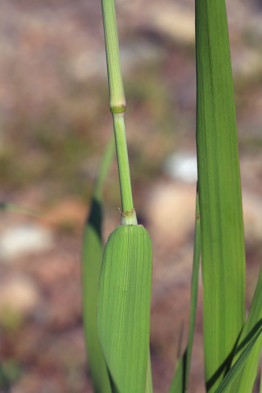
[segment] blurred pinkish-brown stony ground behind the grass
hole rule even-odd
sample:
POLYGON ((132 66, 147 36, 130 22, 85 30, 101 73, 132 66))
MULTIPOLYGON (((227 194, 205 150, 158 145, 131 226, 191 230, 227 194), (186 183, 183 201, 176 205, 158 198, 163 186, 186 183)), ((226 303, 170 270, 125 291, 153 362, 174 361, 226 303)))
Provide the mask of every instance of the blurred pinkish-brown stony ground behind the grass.
MULTIPOLYGON (((189 319, 196 192, 193 0, 116 0, 134 206, 153 243, 154 391, 167 392, 189 319)), ((227 0, 247 254, 262 260, 262 3, 227 0)), ((99 0, 2 0, 0 392, 91 393, 81 238, 112 133, 99 0)), ((104 241, 119 224, 114 161, 104 241)), ((202 393, 202 289, 189 392, 202 393)), ((258 390, 258 383, 255 391, 258 390)))

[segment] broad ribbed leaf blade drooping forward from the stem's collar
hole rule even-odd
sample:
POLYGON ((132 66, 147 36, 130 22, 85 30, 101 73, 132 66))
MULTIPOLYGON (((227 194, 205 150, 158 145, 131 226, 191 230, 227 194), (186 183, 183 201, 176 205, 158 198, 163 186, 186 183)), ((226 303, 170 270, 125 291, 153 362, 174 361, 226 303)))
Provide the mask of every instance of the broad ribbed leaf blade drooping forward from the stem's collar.
POLYGON ((97 328, 113 391, 145 393, 152 245, 141 225, 108 237, 99 279, 97 328))

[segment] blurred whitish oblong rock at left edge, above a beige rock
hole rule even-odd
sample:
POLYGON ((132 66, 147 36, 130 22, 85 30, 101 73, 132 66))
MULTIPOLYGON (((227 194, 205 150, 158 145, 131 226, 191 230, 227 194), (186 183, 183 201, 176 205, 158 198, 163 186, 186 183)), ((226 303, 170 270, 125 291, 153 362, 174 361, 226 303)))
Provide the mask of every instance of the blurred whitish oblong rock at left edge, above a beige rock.
POLYGON ((52 246, 51 232, 33 224, 7 228, 0 235, 0 258, 10 261, 27 253, 38 253, 52 246))

